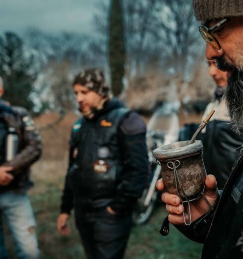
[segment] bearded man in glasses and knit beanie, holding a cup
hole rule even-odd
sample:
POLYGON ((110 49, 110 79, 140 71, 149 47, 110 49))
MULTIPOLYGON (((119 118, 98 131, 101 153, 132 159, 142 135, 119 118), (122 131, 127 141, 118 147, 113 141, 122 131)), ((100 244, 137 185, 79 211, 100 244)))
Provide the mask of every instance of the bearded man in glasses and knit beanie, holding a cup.
MULTIPOLYGON (((227 71, 225 98, 232 127, 243 132, 243 0, 193 0, 193 7, 202 23, 199 29, 207 43, 207 59, 227 71)), ((206 177, 205 187, 208 202, 201 197, 190 203, 190 226, 184 225, 180 197, 164 192, 169 221, 191 240, 204 244, 202 259, 242 259, 243 146, 223 192, 218 192, 213 175, 206 177)), ((157 188, 164 190, 163 180, 157 188)))

